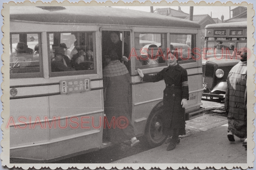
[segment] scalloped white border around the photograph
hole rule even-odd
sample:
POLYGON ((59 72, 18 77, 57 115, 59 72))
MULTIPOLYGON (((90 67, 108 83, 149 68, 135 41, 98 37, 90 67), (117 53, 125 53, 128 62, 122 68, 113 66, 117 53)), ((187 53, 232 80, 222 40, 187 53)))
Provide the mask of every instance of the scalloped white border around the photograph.
POLYGON ((24 2, 18 2, 15 3, 13 1, 3 3, 3 8, 1 11, 1 14, 3 16, 3 25, 2 25, 2 44, 3 44, 3 53, 1 55, 3 60, 3 66, 1 68, 3 81, 1 83, 2 88, 2 96, 1 101, 3 103, 3 111, 1 113, 1 117, 3 119, 1 130, 3 132, 3 139, 1 141, 1 147, 2 147, 2 153, 0 155, 1 158, 1 164, 2 166, 5 166, 7 168, 12 167, 21 167, 22 169, 29 169, 29 168, 35 168, 35 169, 41 169, 41 168, 49 168, 49 169, 68 169, 68 168, 75 168, 75 169, 98 169, 98 168, 104 168, 104 169, 111 169, 111 168, 117 168, 119 170, 124 168, 132 168, 134 170, 137 170, 139 168, 144 168, 146 170, 149 170, 151 168, 160 168, 161 170, 171 168, 174 170, 177 170, 179 168, 187 168, 187 169, 207 169, 207 168, 215 168, 215 169, 233 169, 233 168, 241 168, 241 169, 247 169, 254 167, 254 160, 255 155, 253 153, 253 148, 255 147, 255 142, 253 141, 253 134, 255 132, 255 125, 254 125, 254 119, 255 119, 255 111, 254 111, 254 104, 256 102, 256 97, 254 95, 254 91, 256 90, 256 84, 255 84, 255 73, 256 69, 254 66, 255 61, 255 53, 254 53, 254 45, 255 45, 255 39, 253 36, 253 33, 255 32, 255 27, 253 25, 253 17, 255 15, 255 11, 253 10, 253 3, 248 2, 241 2, 241 3, 233 3, 231 1, 228 2, 220 2, 216 1, 215 3, 208 3, 205 1, 194 2, 192 0, 184 3, 180 3, 178 1, 158 1, 158 2, 151 2, 150 0, 146 0, 145 2, 141 1, 78 1, 78 2, 69 2, 67 0, 65 1, 51 1, 51 2, 43 2, 43 1, 37 1, 37 2, 31 2, 28 0, 25 0, 24 2), (247 61, 247 119, 248 119, 248 126, 247 126, 247 163, 246 164, 158 164, 158 163, 152 163, 152 164, 47 164, 47 163, 13 163, 11 164, 9 162, 10 157, 10 132, 9 129, 5 129, 5 126, 7 124, 7 120, 9 118, 9 111, 10 111, 10 98, 9 98, 9 87, 10 87, 10 73, 9 73, 9 65, 5 64, 5 61, 9 61, 9 54, 7 54, 5 49, 9 48, 9 40, 4 37, 4 34, 9 34, 10 28, 9 28, 9 6, 246 6, 247 7, 247 48, 251 51, 252 56, 247 61))

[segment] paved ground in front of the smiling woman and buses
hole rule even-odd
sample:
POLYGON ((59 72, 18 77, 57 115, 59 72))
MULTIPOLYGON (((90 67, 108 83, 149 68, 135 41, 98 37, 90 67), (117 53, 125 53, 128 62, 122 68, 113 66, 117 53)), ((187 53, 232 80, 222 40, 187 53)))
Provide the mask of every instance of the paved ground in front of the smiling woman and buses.
MULTIPOLYGON (((113 163, 246 163, 247 154, 239 138, 235 138, 236 141, 233 143, 227 139, 226 120, 215 116, 203 117, 218 125, 216 127, 204 126, 204 123, 201 127, 196 125, 196 130, 201 128, 203 131, 183 137, 181 143, 172 151, 166 151, 168 144, 164 144, 113 163)), ((202 116, 195 118, 189 125, 201 120, 202 116)))

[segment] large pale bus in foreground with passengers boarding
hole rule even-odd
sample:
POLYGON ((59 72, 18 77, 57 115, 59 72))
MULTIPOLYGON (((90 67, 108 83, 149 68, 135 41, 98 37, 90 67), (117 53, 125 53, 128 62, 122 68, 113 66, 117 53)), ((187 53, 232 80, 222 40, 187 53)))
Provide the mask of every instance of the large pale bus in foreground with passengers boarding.
MULTIPOLYGON (((141 48, 145 43, 158 43, 162 57, 171 44, 196 48, 200 45, 199 24, 110 7, 11 6, 10 119, 6 127, 10 128, 11 162, 50 162, 111 145, 103 143, 102 73, 111 31, 120 33, 122 49, 126 44, 130 52, 125 66, 131 76, 129 109, 135 135, 144 136, 151 147, 165 141, 160 116, 165 83, 142 82, 137 68, 155 74, 167 62, 156 59, 155 64, 147 65, 140 56, 141 48), (61 65, 67 67, 81 49, 91 57, 87 68, 54 67, 55 53, 66 56, 61 65)), ((200 107, 203 72, 198 55, 185 55, 179 56, 186 58, 179 63, 188 72, 188 120, 204 110, 200 107)))

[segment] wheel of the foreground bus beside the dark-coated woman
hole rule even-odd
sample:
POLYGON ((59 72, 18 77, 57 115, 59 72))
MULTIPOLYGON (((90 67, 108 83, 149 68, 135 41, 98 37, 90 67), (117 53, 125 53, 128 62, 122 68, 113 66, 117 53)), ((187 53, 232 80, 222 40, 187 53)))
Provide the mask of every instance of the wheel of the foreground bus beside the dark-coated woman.
POLYGON ((158 147, 162 145, 167 136, 163 134, 163 117, 162 110, 159 109, 151 113, 147 119, 146 125, 146 141, 150 147, 158 147))

